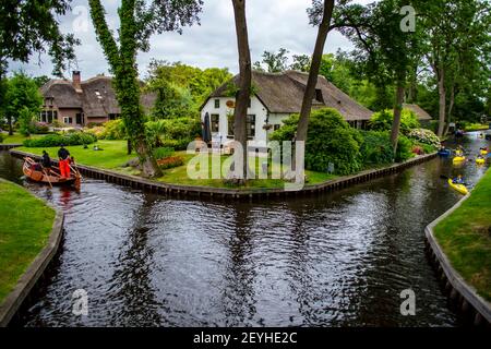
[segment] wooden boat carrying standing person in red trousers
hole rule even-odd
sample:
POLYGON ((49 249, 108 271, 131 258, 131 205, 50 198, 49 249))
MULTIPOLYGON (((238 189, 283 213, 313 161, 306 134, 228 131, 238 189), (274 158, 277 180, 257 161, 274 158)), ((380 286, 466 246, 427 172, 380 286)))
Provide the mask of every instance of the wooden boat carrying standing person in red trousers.
POLYGON ((71 167, 70 177, 63 178, 58 168, 51 167, 50 169, 45 169, 41 168, 40 165, 37 165, 31 157, 25 157, 22 171, 25 177, 34 182, 46 183, 49 185, 73 185, 76 189, 80 189, 82 176, 73 167, 71 167))

